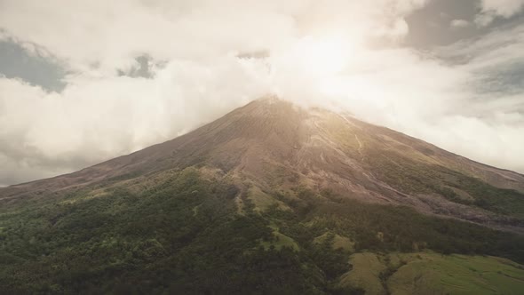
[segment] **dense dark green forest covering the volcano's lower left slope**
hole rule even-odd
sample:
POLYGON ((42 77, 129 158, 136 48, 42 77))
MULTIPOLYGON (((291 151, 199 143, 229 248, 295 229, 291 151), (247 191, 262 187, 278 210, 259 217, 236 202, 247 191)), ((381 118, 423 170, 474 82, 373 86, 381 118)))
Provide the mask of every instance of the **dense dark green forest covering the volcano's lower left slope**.
POLYGON ((0 290, 322 293, 322 269, 306 255, 285 244, 264 249, 261 241, 275 239, 270 223, 235 214, 237 193, 187 169, 141 194, 79 191, 5 209, 0 290))

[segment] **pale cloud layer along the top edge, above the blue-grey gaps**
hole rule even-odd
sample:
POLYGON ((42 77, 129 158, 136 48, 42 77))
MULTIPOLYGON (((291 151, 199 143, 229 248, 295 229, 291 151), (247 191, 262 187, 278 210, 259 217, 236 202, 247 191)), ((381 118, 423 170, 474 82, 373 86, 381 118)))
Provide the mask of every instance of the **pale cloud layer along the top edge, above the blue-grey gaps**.
POLYGON ((20 41, 41 45, 73 70, 112 75, 115 69, 130 68, 143 53, 156 60, 210 58, 274 49, 304 32, 332 28, 355 38, 365 30, 398 38, 406 33, 402 16, 424 3, 99 0, 72 5, 20 0, 2 4, 0 28, 20 41))

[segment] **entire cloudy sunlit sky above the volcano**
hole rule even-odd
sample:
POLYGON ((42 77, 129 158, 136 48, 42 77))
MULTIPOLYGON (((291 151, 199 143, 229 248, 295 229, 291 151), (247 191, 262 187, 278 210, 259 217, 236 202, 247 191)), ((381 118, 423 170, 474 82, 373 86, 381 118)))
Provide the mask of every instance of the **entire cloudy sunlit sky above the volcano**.
POLYGON ((0 0, 0 186, 267 94, 524 172, 524 0, 0 0))

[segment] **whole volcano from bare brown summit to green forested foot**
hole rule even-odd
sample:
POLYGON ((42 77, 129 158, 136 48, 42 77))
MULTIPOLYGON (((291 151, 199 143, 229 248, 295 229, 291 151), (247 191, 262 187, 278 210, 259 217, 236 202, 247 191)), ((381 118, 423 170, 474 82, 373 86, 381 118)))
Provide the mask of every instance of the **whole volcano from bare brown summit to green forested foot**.
POLYGON ((256 100, 131 155, 0 189, 0 289, 455 293, 435 289, 431 271, 416 285, 410 269, 438 260, 445 274, 467 259, 465 285, 481 264, 492 273, 483 291, 518 293, 523 192, 519 173, 351 116, 256 100))

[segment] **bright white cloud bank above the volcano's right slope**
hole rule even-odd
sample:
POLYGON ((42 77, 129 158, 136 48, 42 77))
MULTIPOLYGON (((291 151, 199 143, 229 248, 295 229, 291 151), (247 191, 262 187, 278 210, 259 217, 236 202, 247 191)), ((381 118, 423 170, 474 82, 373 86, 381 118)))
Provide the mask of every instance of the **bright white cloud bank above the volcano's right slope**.
POLYGON ((374 123, 524 171, 524 25, 431 55, 405 49, 380 54, 369 57, 377 62, 369 76, 346 76, 348 89, 337 101, 374 123))

